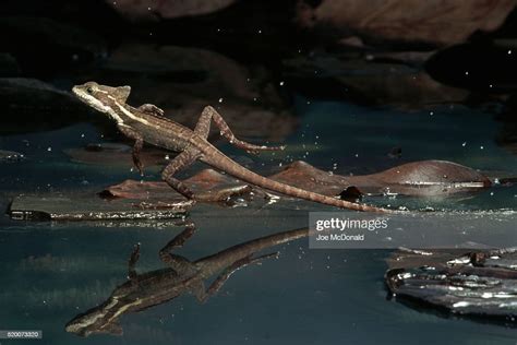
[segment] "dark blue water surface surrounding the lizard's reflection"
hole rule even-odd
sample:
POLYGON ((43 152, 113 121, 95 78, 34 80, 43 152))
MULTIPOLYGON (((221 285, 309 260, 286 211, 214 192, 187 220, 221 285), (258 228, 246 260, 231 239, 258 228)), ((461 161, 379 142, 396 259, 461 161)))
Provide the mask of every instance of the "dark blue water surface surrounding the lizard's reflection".
MULTIPOLYGON (((299 130, 281 155, 263 155, 254 167, 278 168, 291 158, 336 172, 365 174, 417 159, 448 159, 486 171, 514 175, 517 160, 494 144, 498 124, 489 114, 462 106, 405 112, 345 103, 297 100, 299 130), (375 123, 375 124, 373 124, 375 123), (387 153, 402 147, 402 158, 387 153), (306 154, 309 152, 309 154, 306 154), (263 165, 264 164, 264 165, 263 165)), ((70 162, 62 150, 99 141, 87 123, 27 135, 0 138, 3 150, 25 162, 0 169, 1 205, 34 191, 99 189, 136 178, 128 167, 106 168, 70 162), (84 134, 84 135, 83 135, 84 134), (51 150, 49 151, 49 147, 51 150)), ((242 155, 223 145, 225 152, 242 155)), ((157 179, 149 171, 145 179, 157 179)), ((515 187, 496 186, 471 198, 411 200, 497 216, 514 214, 515 187)), ((386 204, 383 198, 373 200, 386 204)), ((280 230, 306 226, 304 202, 280 201, 262 210, 197 205, 190 218, 196 234, 179 250, 195 260, 280 230), (298 210, 297 210, 298 209, 298 210)), ((0 324, 44 331, 38 344, 515 344, 515 329, 447 317, 387 299, 383 275, 389 250, 311 250, 300 239, 280 246, 278 260, 240 270, 221 292, 200 305, 184 295, 121 318, 123 336, 81 338, 64 331, 75 314, 104 301, 125 279, 128 257, 142 243, 139 272, 163 266, 158 250, 182 228, 168 222, 24 223, 0 221, 0 324)), ((444 224, 443 226, 447 226, 444 224)), ((490 229, 488 229, 490 230, 490 229)), ((515 246, 509 237, 508 246, 515 246)), ((7 341, 0 341, 8 344, 7 341)), ((14 342, 13 342, 14 343, 14 342)), ((21 343, 21 342, 20 342, 21 343)))

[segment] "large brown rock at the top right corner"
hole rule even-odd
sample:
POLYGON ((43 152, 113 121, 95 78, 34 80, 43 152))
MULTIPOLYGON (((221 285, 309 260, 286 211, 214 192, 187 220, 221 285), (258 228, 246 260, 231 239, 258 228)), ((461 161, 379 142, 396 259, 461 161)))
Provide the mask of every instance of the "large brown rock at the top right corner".
POLYGON ((496 29, 515 5, 514 0, 324 0, 316 8, 302 1, 297 16, 304 27, 332 27, 341 37, 353 33, 369 44, 447 46, 496 29))

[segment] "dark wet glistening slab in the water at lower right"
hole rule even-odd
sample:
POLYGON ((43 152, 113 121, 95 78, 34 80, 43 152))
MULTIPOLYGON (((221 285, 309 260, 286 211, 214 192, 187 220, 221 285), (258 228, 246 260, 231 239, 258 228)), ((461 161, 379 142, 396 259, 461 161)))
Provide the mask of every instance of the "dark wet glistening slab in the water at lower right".
POLYGON ((517 251, 399 250, 388 260, 385 279, 397 300, 445 309, 458 316, 517 316, 517 251))

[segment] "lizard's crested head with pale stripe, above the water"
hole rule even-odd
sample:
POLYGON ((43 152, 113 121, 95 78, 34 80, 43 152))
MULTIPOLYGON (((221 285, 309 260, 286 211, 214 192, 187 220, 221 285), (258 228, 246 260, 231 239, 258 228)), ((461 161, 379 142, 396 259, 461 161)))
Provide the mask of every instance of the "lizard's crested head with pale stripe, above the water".
POLYGON ((130 86, 111 87, 97 84, 96 82, 87 82, 83 85, 75 85, 73 93, 94 109, 113 115, 113 108, 125 105, 131 93, 130 86))

